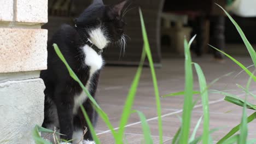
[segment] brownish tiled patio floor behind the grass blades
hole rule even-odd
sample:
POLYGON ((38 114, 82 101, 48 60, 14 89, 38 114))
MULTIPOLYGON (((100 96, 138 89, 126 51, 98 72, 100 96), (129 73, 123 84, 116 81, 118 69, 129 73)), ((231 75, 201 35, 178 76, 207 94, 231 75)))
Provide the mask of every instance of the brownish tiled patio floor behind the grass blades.
MULTIPOLYGON (((245 65, 253 64, 249 57, 237 57, 238 61, 245 65)), ((245 86, 248 76, 242 73, 234 78, 236 74, 241 71, 241 68, 231 62, 228 58, 224 63, 213 61, 211 56, 203 58, 193 58, 193 61, 199 63, 206 75, 207 82, 210 83, 214 79, 234 71, 228 77, 220 79, 210 89, 233 90, 230 93, 237 94, 244 97, 245 93, 237 88, 236 83, 245 86)), ((133 76, 136 72, 136 67, 105 67, 101 74, 101 81, 98 87, 97 99, 102 109, 108 114, 110 121, 115 128, 119 125, 119 119, 124 105, 126 94, 129 91, 133 76)), ((251 69, 252 70, 252 69, 251 69)), ((158 78, 158 86, 160 95, 168 93, 183 91, 184 89, 184 59, 170 58, 163 59, 162 68, 156 69, 158 78)), ((198 89, 199 83, 194 71, 194 89, 198 89)), ((255 83, 252 83, 251 91, 253 92, 255 83)), ((194 97, 196 99, 198 95, 194 97)), ((223 100, 222 95, 210 94, 210 126, 211 128, 221 128, 212 134, 214 141, 219 140, 224 134, 241 121, 242 109, 239 106, 230 104, 223 100)), ((256 102, 252 97, 249 100, 256 102)), ((178 116, 182 115, 183 97, 167 97, 161 98, 162 105, 162 121, 164 128, 164 141, 171 143, 172 137, 176 133, 181 124, 178 116)), ((141 76, 141 82, 138 87, 137 95, 133 109, 142 111, 151 128, 154 143, 158 143, 158 121, 156 115, 154 88, 150 69, 144 68, 141 76)), ((248 115, 253 111, 248 110, 248 115)), ((199 103, 195 106, 193 111, 193 120, 191 127, 193 128, 197 120, 202 116, 202 106, 199 103)), ((249 137, 256 136, 256 121, 249 124, 249 137)), ((114 143, 113 137, 108 131, 108 128, 99 118, 96 127, 98 136, 102 143, 114 143)), ((202 134, 202 124, 198 134, 202 134)), ((125 131, 127 143, 143 143, 143 133, 139 118, 136 113, 130 117, 125 131)))

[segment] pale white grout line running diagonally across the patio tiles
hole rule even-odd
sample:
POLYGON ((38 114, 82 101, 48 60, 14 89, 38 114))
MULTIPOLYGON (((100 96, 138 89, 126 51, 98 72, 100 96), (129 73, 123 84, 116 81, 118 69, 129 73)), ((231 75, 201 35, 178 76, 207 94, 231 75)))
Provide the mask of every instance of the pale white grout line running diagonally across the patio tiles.
MULTIPOLYGON (((252 92, 256 92, 256 91, 252 91, 252 92)), ((246 93, 237 94, 237 97, 241 97, 241 96, 243 96, 243 95, 245 95, 245 94, 246 94, 246 93)), ((218 100, 210 101, 210 102, 209 102, 209 105, 211 105, 211 104, 216 104, 216 103, 219 103, 219 102, 221 102, 221 101, 224 101, 224 98, 218 99, 218 100)), ((195 109, 195 108, 197 108, 197 107, 201 107, 201 106, 202 106, 202 104, 200 104, 200 105, 195 105, 193 109, 195 109)), ((165 115, 162 115, 161 118, 166 117, 166 116, 171 116, 171 115, 180 113, 180 112, 182 112, 182 111, 183 111, 183 109, 178 110, 178 111, 174 111, 174 112, 171 112, 171 113, 166 113, 165 115)), ((155 119, 158 119, 158 117, 149 118, 149 119, 147 119, 147 122, 153 121, 153 120, 155 120, 155 119)), ((127 124, 127 125, 125 125, 125 128, 126 128, 126 127, 130 127, 130 126, 132 126, 132 125, 140 124, 140 123, 141 123, 141 121, 135 122, 135 123, 131 123, 131 124, 127 124)), ((119 127, 114 128, 114 130, 117 130, 117 129, 119 129, 119 127)), ((106 133, 109 133, 110 131, 111 131, 111 130, 106 130, 106 131, 103 131, 103 132, 101 132, 101 133, 98 133, 97 135, 106 134, 106 133)))

